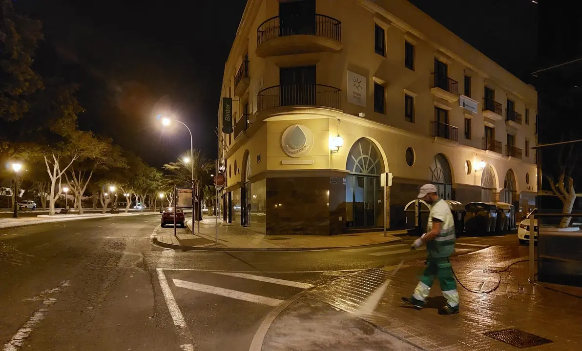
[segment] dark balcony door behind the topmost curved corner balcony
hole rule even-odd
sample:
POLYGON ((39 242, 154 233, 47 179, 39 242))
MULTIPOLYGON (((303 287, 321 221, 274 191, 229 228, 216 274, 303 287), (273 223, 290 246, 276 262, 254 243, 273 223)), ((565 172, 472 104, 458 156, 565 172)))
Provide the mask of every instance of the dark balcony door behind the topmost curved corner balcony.
POLYGON ((279 1, 279 35, 315 34, 315 0, 279 1))

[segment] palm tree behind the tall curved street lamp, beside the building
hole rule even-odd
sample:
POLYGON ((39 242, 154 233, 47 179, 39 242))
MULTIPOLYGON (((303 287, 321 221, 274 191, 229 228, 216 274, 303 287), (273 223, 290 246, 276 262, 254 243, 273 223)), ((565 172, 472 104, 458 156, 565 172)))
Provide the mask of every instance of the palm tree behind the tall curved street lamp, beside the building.
MULTIPOLYGON (((190 150, 186 151, 184 155, 190 155, 190 150)), ((170 162, 164 164, 162 168, 171 172, 171 174, 166 175, 169 184, 179 185, 183 187, 190 181, 192 168, 194 167, 194 185, 198 190, 198 198, 201 196, 201 186, 202 181, 207 177, 208 172, 212 170, 214 165, 210 160, 208 160, 200 150, 194 149, 192 152, 192 159, 189 162, 184 162, 184 160, 178 159, 177 162, 170 162)), ((202 218, 202 207, 198 206, 198 220, 202 218)))

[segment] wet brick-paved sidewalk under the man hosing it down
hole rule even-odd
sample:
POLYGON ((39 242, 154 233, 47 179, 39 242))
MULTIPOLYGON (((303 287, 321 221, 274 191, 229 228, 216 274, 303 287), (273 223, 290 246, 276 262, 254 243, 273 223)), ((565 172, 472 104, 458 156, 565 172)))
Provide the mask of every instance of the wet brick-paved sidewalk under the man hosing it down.
MULTIPOLYGON (((526 251, 492 246, 453 257, 457 277, 476 293, 457 284, 460 313, 452 316, 437 313, 438 307, 446 303, 438 282, 424 309, 414 310, 402 303, 400 298, 413 292, 424 269, 423 261, 406 263, 394 276, 395 266, 361 271, 314 289, 309 296, 359 316, 420 350, 582 349, 582 299, 530 284, 528 264, 519 262, 527 259, 526 251), (519 263, 507 268, 515 262, 519 263), (484 272, 486 269, 501 273, 484 272), (369 293, 362 293, 364 289, 369 293), (506 342, 522 344, 511 346, 493 338, 491 332, 506 342), (535 347, 536 336, 549 342, 535 347)), ((582 296, 580 288, 572 288, 569 293, 576 290, 582 296)))

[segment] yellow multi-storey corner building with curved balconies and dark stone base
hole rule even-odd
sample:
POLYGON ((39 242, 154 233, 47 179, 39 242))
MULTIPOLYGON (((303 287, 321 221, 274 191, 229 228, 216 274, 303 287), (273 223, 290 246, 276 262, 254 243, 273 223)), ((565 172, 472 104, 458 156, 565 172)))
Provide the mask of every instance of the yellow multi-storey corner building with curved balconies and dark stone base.
POLYGON ((411 228, 427 182, 523 213, 536 115, 531 85, 405 0, 249 0, 218 116, 226 217, 274 235, 411 228))

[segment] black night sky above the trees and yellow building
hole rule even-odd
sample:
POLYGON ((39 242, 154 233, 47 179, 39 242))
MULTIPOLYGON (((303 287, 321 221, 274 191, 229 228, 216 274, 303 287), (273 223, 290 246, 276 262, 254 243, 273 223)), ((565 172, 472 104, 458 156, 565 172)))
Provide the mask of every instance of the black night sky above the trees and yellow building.
MULTIPOLYGON (((537 5, 529 0, 411 2, 529 83, 537 5)), ((222 73, 245 0, 15 4, 44 23, 36 70, 81 85, 77 96, 86 109, 79 116, 81 129, 112 137, 159 166, 190 146, 185 128, 162 132, 159 127, 158 114, 173 114, 190 126, 194 148, 217 156, 213 130, 222 73)))

